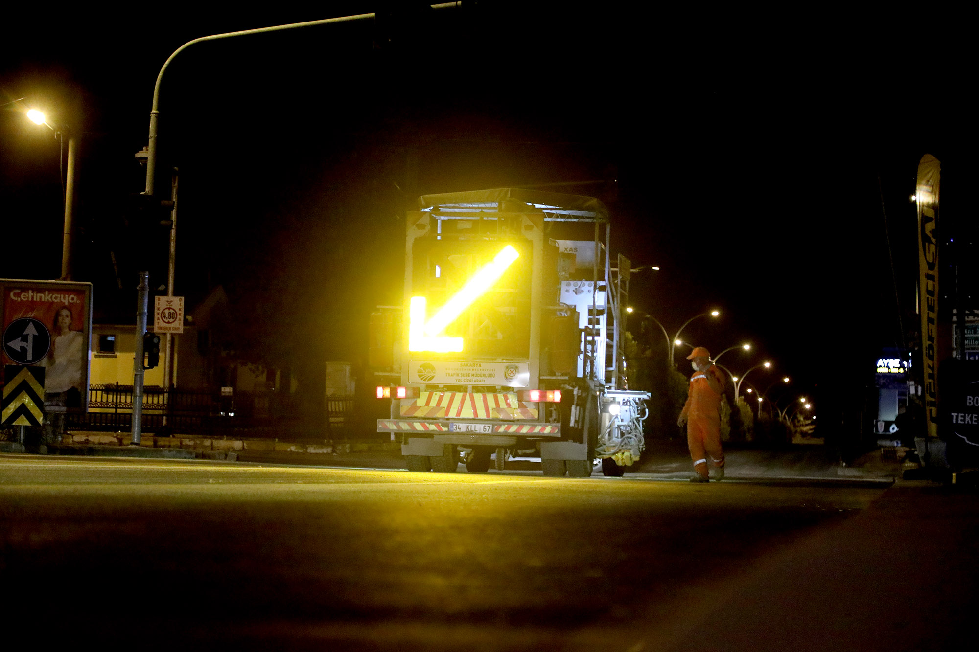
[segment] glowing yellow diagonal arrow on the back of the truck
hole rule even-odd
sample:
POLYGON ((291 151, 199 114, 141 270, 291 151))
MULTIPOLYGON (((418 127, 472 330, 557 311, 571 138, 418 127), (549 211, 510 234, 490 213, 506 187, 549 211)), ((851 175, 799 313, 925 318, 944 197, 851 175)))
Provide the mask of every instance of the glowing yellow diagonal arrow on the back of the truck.
POLYGON ((425 298, 412 297, 409 307, 408 350, 436 352, 462 350, 462 338, 443 337, 440 333, 455 321, 463 310, 483 296, 518 256, 520 254, 511 245, 504 247, 490 262, 483 265, 428 322, 425 321, 425 298))

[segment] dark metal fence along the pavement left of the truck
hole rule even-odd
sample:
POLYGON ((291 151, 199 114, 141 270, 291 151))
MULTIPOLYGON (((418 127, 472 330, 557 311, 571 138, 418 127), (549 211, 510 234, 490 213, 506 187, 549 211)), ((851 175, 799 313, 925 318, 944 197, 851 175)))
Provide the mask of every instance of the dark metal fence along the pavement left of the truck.
MULTIPOLYGON (((221 396, 215 391, 147 386, 143 389, 142 430, 214 437, 280 437, 289 431, 297 436, 321 437, 343 429, 354 411, 352 396, 331 396, 326 406, 329 418, 309 424, 299 415, 297 402, 296 396, 273 392, 221 396)), ((129 431, 132 405, 131 385, 92 385, 88 412, 68 415, 66 427, 79 431, 129 431)))

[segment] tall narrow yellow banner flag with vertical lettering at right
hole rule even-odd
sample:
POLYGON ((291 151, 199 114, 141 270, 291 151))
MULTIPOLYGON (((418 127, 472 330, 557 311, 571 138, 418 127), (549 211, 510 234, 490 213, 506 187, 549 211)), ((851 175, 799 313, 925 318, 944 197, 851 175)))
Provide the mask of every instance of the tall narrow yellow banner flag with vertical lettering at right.
POLYGON ((926 154, 918 163, 918 312, 921 314, 921 356, 924 367, 925 421, 928 437, 938 437, 938 187, 941 164, 926 154))

